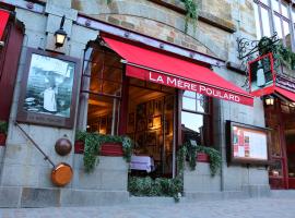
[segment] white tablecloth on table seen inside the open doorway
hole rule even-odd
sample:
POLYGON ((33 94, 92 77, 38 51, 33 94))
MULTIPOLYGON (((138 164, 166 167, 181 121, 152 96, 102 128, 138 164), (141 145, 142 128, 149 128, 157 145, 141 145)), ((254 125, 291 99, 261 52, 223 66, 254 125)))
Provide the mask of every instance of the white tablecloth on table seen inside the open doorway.
POLYGON ((131 156, 130 169, 131 170, 144 170, 151 172, 154 170, 154 160, 149 156, 131 156))

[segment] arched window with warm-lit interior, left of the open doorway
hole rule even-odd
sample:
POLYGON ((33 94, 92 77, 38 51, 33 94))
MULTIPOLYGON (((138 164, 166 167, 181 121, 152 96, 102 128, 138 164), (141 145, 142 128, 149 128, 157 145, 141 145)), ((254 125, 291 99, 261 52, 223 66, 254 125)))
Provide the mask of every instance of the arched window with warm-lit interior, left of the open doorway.
POLYGON ((81 93, 87 96, 86 129, 117 135, 123 72, 120 57, 94 46, 85 52, 85 59, 81 93))

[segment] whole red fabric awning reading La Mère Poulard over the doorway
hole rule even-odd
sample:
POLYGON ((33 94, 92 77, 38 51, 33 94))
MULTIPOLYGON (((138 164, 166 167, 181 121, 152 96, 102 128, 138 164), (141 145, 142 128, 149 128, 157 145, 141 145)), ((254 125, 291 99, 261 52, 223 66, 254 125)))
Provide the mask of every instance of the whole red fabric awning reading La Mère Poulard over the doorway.
POLYGON ((103 38, 127 61, 128 76, 248 106, 253 105, 251 95, 208 68, 108 36, 103 38))

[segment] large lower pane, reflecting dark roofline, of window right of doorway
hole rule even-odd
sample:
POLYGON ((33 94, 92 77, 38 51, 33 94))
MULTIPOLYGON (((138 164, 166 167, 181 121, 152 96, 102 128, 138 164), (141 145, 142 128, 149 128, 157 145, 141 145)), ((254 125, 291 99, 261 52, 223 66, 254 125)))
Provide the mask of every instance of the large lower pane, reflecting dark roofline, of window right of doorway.
POLYGON ((182 111, 181 129, 184 133, 184 142, 196 141, 198 145, 203 145, 203 116, 182 111))

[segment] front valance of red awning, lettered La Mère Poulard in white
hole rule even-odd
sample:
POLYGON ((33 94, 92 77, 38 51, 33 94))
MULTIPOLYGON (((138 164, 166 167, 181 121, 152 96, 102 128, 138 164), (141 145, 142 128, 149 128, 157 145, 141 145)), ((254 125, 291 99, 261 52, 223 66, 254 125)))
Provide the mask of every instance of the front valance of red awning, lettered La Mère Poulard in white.
POLYGON ((161 85, 196 92, 209 97, 215 97, 248 106, 253 105, 253 99, 249 95, 238 94, 233 90, 224 89, 210 84, 198 83, 197 81, 180 78, 174 75, 163 74, 146 69, 127 65, 127 75, 161 85))

